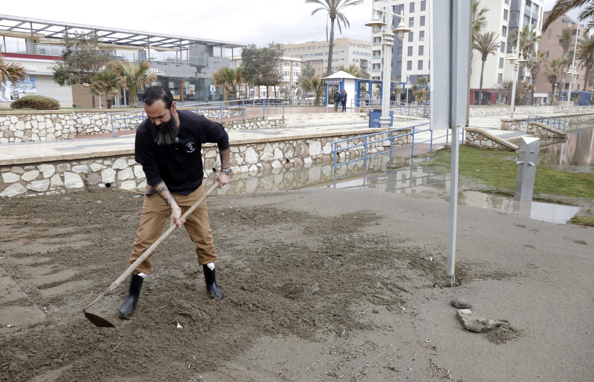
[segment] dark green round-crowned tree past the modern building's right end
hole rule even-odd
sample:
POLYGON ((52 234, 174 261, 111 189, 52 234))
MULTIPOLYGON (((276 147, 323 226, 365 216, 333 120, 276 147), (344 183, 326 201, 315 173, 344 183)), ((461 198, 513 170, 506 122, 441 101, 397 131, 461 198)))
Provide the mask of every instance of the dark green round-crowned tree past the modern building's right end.
POLYGON ((273 86, 280 84, 280 58, 283 56, 282 44, 271 42, 267 46, 257 47, 249 44, 241 51, 241 68, 245 80, 255 86, 273 86))

